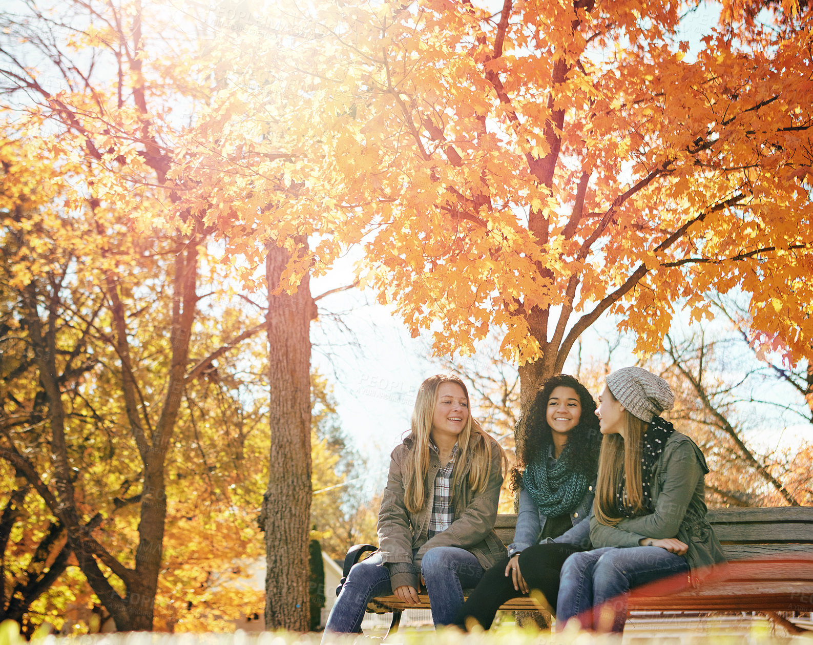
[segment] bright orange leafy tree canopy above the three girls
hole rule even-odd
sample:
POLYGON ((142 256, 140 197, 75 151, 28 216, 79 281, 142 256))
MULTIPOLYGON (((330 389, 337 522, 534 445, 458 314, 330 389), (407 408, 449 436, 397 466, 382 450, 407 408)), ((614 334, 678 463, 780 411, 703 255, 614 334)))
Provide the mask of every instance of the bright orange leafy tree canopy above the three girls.
POLYGON ((199 126, 228 124, 240 198, 276 195, 221 220, 285 238, 289 288, 363 239, 363 284, 414 333, 504 329, 527 391, 604 312, 652 351, 718 291, 810 355, 809 7, 727 3, 696 53, 680 2, 309 7, 224 25, 257 87, 199 126))

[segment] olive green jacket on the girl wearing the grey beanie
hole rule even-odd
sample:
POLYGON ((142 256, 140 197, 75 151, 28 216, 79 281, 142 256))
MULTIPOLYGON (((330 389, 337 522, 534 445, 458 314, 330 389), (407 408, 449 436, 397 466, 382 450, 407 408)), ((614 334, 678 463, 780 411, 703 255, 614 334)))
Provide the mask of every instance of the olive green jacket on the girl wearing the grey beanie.
POLYGON ((674 432, 654 466, 654 512, 621 520, 615 526, 590 517, 590 541, 598 547, 637 547, 642 538, 677 538, 689 546, 686 560, 693 582, 725 561, 723 547, 706 519, 703 477, 709 472, 700 448, 674 432))

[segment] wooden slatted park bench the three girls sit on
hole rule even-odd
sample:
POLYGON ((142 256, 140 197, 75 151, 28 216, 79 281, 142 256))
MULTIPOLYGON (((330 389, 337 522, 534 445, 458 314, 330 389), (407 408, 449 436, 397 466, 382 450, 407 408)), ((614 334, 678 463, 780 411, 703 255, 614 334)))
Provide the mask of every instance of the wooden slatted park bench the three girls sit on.
MULTIPOLYGON (((652 595, 651 588, 633 591, 631 611, 813 612, 813 507, 720 508, 709 511, 708 517, 728 564, 715 568, 699 586, 678 593, 652 595)), ((503 543, 513 541, 515 525, 515 515, 498 516, 494 529, 503 543)), ((363 552, 375 548, 357 545, 351 549, 345 576, 363 552)), ((428 595, 419 598, 420 604, 407 607, 394 595, 379 596, 367 612, 393 612, 393 632, 404 609, 429 608, 428 595)), ((528 597, 511 599, 500 608, 546 609, 528 597)))

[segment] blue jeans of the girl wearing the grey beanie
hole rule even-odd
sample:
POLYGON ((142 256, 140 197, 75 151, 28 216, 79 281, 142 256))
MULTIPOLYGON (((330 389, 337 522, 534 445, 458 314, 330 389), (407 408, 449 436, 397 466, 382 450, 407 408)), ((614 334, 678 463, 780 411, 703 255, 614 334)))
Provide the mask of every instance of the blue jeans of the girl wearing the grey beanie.
POLYGON ((674 576, 670 591, 688 586, 689 564, 661 547, 603 547, 574 553, 562 567, 556 620, 577 617, 585 630, 624 631, 628 592, 674 576))

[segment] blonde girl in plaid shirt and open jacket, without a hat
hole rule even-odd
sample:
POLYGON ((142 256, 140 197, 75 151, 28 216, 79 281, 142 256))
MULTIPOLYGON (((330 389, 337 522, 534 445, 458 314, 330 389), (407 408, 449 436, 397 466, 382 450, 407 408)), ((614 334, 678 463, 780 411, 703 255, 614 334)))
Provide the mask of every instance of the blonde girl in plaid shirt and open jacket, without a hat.
POLYGON ((505 455, 469 412, 468 390, 437 374, 418 390, 410 434, 390 455, 378 513, 379 550, 355 564, 325 633, 358 633, 377 595, 418 602, 423 582, 435 625, 448 625, 505 550, 493 532, 505 455))

